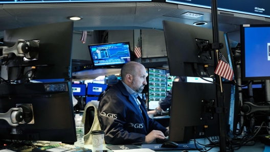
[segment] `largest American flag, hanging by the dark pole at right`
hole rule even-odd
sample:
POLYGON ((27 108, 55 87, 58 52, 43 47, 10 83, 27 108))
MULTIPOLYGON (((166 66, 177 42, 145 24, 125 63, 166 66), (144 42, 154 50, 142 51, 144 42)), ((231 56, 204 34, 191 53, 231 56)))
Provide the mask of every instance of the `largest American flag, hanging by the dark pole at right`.
POLYGON ((223 54, 221 52, 218 53, 219 62, 217 64, 215 73, 220 75, 221 77, 228 79, 230 81, 233 80, 233 70, 223 54))

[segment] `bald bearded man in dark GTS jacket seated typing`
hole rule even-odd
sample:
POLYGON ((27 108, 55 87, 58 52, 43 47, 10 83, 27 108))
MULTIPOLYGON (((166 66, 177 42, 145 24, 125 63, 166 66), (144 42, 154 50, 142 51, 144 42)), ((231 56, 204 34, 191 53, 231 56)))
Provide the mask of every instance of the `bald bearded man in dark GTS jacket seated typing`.
POLYGON ((151 143, 165 139, 168 130, 149 118, 138 96, 147 84, 145 67, 128 62, 121 69, 122 81, 111 87, 99 103, 98 116, 104 139, 109 144, 151 143))

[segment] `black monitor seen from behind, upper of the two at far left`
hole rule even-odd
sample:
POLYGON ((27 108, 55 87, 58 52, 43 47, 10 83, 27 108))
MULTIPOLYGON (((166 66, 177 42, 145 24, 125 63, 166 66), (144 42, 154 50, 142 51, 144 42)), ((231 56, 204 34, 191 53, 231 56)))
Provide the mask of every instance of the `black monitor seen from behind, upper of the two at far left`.
MULTIPOLYGON (((32 79, 70 79, 72 38, 73 21, 5 30, 4 46, 12 47, 18 39, 39 43, 38 57, 35 60, 25 60, 11 54, 7 64, 8 75, 5 77, 16 80, 20 72, 25 74, 35 66, 32 79)), ((2 73, 3 71, 1 76, 4 78, 2 73)))

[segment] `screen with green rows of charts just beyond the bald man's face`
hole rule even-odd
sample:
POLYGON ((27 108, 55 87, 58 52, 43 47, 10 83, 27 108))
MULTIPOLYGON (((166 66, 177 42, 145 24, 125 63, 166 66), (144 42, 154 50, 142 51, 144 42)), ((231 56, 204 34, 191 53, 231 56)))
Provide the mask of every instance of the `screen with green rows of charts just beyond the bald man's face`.
POLYGON ((149 96, 148 96, 148 110, 154 110, 159 107, 159 101, 166 97, 167 92, 167 78, 166 70, 148 68, 149 77, 149 96))

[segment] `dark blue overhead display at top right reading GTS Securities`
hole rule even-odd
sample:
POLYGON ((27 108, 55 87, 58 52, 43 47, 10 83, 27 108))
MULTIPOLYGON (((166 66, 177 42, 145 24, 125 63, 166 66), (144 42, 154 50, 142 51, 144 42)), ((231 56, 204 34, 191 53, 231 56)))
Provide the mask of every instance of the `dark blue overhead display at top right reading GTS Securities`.
MULTIPOLYGON (((194 7, 202 7, 211 9, 211 1, 200 0, 166 0, 169 3, 176 3, 182 5, 189 5, 194 7)), ((246 1, 234 1, 234 0, 217 0, 217 9, 221 11, 270 17, 269 1, 261 0, 246 0, 246 1)))

